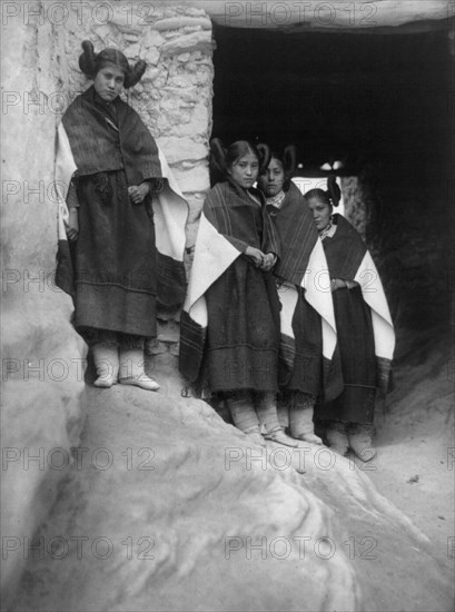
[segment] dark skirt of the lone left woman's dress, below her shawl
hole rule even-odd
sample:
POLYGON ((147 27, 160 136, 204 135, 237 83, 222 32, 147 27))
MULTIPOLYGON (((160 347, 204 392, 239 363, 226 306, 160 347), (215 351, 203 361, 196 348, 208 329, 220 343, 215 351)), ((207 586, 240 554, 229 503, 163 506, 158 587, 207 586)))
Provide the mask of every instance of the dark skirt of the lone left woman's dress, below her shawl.
POLYGON ((155 228, 146 204, 131 203, 123 170, 80 178, 78 198, 76 327, 155 336, 155 228))

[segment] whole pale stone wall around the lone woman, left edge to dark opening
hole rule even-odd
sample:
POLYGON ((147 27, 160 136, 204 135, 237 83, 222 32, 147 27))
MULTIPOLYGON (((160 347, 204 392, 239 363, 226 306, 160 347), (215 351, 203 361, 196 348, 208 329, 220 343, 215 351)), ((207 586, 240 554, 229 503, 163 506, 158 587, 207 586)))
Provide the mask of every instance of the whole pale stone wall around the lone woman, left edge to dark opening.
MULTIPOLYGON (((83 39, 96 51, 117 46, 131 62, 148 63, 127 98, 156 136, 189 201, 188 251, 209 187, 210 20, 198 8, 161 1, 147 11, 148 6, 11 2, 3 11, 2 535, 11 551, 27 551, 47 517, 86 414, 87 348, 70 324, 71 299, 53 285, 52 197, 56 126, 88 86, 78 67, 83 39)), ((162 314, 151 347, 171 367, 177 318, 162 314)), ((26 554, 3 560, 6 604, 24 561, 26 554)))

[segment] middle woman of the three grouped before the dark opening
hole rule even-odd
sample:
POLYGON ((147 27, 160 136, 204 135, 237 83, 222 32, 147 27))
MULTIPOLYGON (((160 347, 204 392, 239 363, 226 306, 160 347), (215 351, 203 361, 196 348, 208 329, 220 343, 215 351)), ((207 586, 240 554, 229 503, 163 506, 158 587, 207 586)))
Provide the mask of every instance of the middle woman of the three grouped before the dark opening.
POLYGON ((288 146, 283 155, 271 155, 258 185, 281 244, 274 269, 281 303, 281 403, 287 406, 290 435, 322 444, 314 433, 316 398, 323 392, 336 397, 343 383, 330 367, 336 346, 332 297, 319 290, 327 263, 305 198, 290 180, 295 166, 296 149, 288 146))

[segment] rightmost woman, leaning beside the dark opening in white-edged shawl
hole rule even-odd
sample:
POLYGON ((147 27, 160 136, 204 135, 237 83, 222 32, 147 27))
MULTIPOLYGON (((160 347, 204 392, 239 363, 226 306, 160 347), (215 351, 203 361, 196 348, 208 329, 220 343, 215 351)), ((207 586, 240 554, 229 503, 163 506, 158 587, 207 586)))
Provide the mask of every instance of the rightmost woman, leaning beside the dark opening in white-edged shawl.
POLYGON ((376 389, 387 393, 395 334, 376 266, 359 234, 340 215, 335 176, 327 191, 311 189, 305 197, 326 251, 338 333, 344 391, 317 408, 316 418, 327 442, 345 455, 349 447, 362 461, 372 448, 376 389))

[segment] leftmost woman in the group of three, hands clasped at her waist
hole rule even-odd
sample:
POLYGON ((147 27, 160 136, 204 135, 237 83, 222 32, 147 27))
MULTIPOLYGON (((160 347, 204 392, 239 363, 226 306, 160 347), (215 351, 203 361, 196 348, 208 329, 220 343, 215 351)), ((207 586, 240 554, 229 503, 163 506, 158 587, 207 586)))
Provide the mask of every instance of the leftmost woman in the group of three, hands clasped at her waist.
POLYGON ((254 184, 268 149, 211 141, 212 176, 200 217, 181 316, 180 369, 226 399, 254 441, 296 446, 278 422, 278 298, 271 268, 279 247, 254 184), (264 437, 263 437, 263 435, 264 437))

